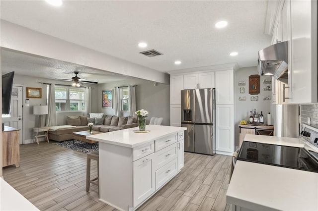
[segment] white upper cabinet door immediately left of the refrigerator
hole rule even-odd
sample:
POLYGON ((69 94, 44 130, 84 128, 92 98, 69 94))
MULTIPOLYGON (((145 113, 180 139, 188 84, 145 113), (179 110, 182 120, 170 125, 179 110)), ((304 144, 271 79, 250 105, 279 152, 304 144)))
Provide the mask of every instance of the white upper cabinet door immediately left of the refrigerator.
POLYGON ((183 75, 170 77, 170 105, 181 105, 181 90, 183 90, 183 75))

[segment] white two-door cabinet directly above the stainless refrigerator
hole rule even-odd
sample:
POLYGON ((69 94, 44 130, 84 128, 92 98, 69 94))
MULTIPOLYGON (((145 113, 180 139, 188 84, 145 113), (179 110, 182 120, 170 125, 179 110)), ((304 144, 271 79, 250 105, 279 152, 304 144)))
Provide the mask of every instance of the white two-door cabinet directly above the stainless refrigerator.
POLYGON ((214 72, 186 74, 183 76, 183 89, 215 88, 214 72))

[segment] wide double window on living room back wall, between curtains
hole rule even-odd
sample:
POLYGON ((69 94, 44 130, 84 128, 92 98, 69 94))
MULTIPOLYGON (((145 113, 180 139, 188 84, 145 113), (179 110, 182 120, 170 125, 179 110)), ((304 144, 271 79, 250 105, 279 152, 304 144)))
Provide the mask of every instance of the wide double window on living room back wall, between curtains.
POLYGON ((85 90, 73 87, 55 87, 56 111, 80 111, 85 109, 85 90))

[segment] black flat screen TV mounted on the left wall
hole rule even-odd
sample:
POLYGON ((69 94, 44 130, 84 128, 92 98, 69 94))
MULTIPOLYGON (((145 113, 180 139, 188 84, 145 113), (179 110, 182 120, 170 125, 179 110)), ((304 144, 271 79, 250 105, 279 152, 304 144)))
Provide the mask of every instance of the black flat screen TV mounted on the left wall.
POLYGON ((2 113, 10 113, 11 93, 14 72, 2 75, 2 113))

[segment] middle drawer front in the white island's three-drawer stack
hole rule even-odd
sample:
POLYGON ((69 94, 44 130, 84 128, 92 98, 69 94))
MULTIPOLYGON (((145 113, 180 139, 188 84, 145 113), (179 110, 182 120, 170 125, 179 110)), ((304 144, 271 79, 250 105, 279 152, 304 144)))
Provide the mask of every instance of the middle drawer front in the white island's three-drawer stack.
POLYGON ((156 152, 155 169, 159 169, 177 157, 177 143, 156 152))

